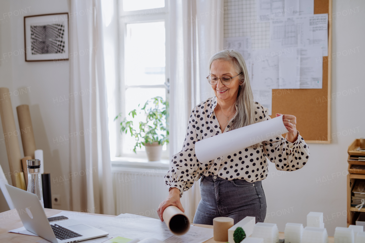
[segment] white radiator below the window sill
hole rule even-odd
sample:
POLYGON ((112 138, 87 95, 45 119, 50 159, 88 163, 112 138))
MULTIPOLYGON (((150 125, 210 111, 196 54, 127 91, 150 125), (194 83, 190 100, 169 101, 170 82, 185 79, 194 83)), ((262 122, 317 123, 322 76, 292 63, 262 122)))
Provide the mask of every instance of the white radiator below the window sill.
POLYGON ((131 213, 158 219, 157 208, 168 196, 167 168, 112 167, 116 215, 131 213))

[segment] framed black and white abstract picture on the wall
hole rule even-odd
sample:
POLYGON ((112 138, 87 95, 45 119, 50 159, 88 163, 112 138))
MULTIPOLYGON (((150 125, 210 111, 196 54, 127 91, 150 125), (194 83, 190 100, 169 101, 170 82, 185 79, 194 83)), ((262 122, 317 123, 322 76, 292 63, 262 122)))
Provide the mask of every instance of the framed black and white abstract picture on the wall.
POLYGON ((25 16, 25 61, 68 60, 68 28, 68 13, 25 16))

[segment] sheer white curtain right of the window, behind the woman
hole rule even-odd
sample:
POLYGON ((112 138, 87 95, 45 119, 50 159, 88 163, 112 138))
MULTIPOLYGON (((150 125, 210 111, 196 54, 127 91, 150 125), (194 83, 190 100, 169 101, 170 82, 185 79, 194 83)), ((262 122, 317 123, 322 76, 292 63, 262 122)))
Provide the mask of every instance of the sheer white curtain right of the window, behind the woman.
MULTIPOLYGON (((223 50, 224 0, 170 1, 170 155, 183 146, 192 109, 214 96, 206 77, 213 54, 223 50)), ((181 203, 189 219, 199 204, 196 182, 181 203)))

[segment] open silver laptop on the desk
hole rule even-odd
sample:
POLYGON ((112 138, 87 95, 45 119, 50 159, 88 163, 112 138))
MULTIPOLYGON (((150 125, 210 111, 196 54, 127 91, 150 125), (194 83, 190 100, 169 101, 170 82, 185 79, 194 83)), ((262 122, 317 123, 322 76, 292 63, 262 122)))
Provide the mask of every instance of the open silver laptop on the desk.
POLYGON ((52 243, 78 242, 108 235, 108 232, 74 219, 49 222, 37 195, 5 185, 24 228, 52 243))

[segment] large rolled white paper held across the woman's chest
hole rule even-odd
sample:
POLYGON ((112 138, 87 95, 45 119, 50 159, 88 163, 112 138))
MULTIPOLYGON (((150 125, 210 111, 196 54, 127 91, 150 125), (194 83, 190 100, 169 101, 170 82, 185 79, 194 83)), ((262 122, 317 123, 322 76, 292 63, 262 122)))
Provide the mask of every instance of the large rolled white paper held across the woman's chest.
POLYGON ((195 155, 200 162, 207 162, 272 139, 285 132, 288 130, 284 126, 283 115, 281 115, 200 140, 195 143, 195 155))

